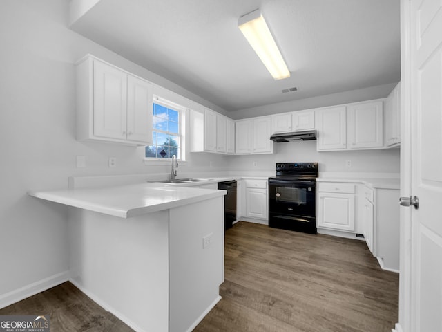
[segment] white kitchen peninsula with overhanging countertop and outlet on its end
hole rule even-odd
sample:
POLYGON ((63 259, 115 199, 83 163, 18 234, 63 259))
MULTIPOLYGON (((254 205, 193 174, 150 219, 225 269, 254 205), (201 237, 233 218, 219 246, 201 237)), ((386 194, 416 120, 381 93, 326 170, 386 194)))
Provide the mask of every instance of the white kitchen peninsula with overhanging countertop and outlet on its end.
POLYGON ((224 190, 33 191, 68 205, 69 280, 135 331, 191 331, 220 300, 224 190))

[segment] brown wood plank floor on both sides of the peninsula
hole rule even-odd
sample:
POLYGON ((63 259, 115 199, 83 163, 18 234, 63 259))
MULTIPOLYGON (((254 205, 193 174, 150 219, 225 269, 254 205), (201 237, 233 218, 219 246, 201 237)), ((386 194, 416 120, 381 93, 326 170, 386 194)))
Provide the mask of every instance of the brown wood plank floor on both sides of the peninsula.
MULTIPOLYGON (((225 237, 222 300, 195 332, 390 332, 398 275, 363 241, 240 222, 225 237)), ((49 314, 51 331, 133 331, 66 282, 0 309, 49 314)))

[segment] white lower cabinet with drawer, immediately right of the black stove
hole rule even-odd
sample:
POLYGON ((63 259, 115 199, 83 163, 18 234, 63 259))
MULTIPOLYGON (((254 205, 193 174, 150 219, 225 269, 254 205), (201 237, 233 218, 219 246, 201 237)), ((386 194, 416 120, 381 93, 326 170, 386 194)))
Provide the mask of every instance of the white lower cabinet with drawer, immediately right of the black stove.
POLYGON ((318 183, 318 228, 355 231, 354 183, 318 183))

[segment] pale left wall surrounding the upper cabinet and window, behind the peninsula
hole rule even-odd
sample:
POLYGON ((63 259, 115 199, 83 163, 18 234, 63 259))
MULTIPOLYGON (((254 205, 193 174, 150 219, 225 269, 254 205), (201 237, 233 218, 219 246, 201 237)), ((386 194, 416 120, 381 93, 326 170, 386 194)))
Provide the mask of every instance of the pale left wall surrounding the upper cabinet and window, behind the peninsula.
MULTIPOLYGON (((78 59, 91 53, 142 77, 155 75, 69 30, 67 19, 67 0, 1 1, 0 306, 30 291, 17 289, 52 277, 47 286, 68 270, 67 209, 31 198, 28 190, 66 188, 68 176, 170 169, 144 165, 142 147, 75 140, 78 59), (86 168, 75 168, 77 155, 86 156, 86 168), (116 168, 108 167, 108 156, 117 157, 116 168)), ((214 171, 228 165, 226 156, 196 155, 178 172, 207 169, 209 160, 214 171)))

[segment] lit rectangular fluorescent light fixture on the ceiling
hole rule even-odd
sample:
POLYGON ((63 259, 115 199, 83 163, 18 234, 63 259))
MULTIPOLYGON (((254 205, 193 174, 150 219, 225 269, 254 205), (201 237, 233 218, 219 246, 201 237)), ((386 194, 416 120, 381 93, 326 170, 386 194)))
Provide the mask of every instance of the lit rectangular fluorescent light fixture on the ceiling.
POLYGON ((289 69, 259 9, 240 17, 238 28, 275 80, 290 77, 289 69))

